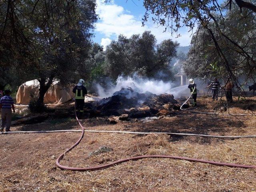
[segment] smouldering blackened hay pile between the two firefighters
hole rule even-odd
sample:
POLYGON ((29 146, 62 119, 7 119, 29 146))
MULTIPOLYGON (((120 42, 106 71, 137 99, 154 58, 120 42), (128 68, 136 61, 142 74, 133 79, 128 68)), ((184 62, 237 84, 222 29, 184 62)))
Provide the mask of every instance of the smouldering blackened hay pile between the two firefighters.
POLYGON ((120 116, 124 120, 168 115, 178 108, 172 94, 139 93, 132 88, 122 88, 111 97, 86 103, 86 112, 91 117, 120 116))

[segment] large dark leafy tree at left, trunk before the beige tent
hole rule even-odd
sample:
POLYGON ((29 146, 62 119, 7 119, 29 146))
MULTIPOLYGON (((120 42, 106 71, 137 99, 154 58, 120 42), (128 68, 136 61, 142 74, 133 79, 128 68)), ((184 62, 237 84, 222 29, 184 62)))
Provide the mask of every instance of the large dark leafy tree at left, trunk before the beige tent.
MULTIPOLYGON (((2 2, 0 50, 18 61, 19 73, 38 79, 38 106, 55 78, 74 82, 88 73, 95 7, 94 0, 2 2)), ((3 58, 1 66, 14 65, 3 58)))

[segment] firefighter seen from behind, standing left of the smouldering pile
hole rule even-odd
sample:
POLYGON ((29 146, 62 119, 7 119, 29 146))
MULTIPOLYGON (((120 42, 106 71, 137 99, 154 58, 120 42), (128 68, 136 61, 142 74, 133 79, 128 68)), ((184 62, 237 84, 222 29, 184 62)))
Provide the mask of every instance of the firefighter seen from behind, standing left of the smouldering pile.
POLYGON ((83 79, 78 81, 78 84, 73 89, 73 93, 76 94, 76 113, 78 114, 78 117, 81 117, 84 113, 84 96, 87 94, 83 79))

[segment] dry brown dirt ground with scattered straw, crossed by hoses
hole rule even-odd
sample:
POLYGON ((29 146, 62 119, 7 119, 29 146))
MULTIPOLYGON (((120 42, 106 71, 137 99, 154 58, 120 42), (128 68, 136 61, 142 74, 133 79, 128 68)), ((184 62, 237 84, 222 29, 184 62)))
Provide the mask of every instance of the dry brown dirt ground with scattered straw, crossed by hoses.
MULTIPOLYGON (((199 98, 198 108, 210 111, 217 105, 199 98)), ((255 112, 256 97, 234 99, 232 113, 255 112), (254 106, 253 106, 254 105, 254 106)), ((63 109, 64 106, 58 106, 63 109)), ((212 135, 256 135, 256 116, 213 116, 175 111, 170 117, 152 122, 118 122, 106 118, 83 119, 88 130, 178 132, 212 135)), ((39 124, 11 130, 80 129, 73 117, 48 119, 39 124)), ((0 191, 136 191, 136 192, 253 192, 256 169, 228 168, 173 159, 143 159, 90 172, 62 171, 56 158, 72 146, 80 133, 0 135, 0 191)), ((87 167, 138 155, 165 154, 205 160, 256 165, 256 138, 214 139, 176 137, 166 134, 85 133, 80 144, 66 154, 61 164, 87 167), (102 146, 112 151, 91 155, 102 146)))

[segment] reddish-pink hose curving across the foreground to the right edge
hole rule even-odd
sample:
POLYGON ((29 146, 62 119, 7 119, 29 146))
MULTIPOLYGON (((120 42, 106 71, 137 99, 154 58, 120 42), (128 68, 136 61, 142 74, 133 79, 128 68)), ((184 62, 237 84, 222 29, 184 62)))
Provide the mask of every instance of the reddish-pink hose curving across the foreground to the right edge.
POLYGON ((201 162, 201 163, 208 163, 213 164, 217 166, 228 166, 228 167, 237 167, 237 168, 256 168, 256 166, 253 165, 242 165, 242 164, 232 164, 232 163, 223 163, 223 162, 215 162, 215 161, 208 161, 208 160, 201 160, 201 159, 194 159, 194 158, 188 158, 188 157, 179 157, 179 156, 167 156, 167 155, 144 155, 144 156, 136 156, 136 157, 130 157, 130 158, 124 158, 121 160, 117 160, 114 162, 111 162, 109 164, 100 165, 100 166, 92 166, 92 167, 85 167, 85 168, 78 168, 78 167, 67 167, 60 164, 60 160, 64 157, 64 155, 68 152, 70 152, 74 147, 76 147, 80 141, 82 140, 84 136, 84 126, 82 126, 81 122, 79 121, 77 115, 76 120, 78 121, 80 127, 82 128, 82 133, 78 141, 71 146, 69 149, 67 149, 64 153, 62 153, 58 159, 56 160, 56 165, 62 169, 62 170, 72 170, 72 171, 89 171, 89 170, 100 170, 104 168, 108 168, 110 166, 114 166, 116 164, 120 164, 122 162, 127 162, 130 160, 139 160, 144 158, 171 158, 171 159, 179 159, 179 160, 187 160, 192 162, 201 162))

